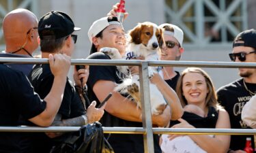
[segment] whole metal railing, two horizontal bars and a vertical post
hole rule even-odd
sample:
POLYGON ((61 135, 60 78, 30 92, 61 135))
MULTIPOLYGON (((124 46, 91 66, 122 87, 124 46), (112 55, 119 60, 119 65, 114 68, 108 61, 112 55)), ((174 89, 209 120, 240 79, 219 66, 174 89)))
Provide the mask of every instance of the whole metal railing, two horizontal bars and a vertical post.
MULTIPOLYGON (((0 63, 23 63, 23 64, 48 64, 46 58, 0 58, 0 63)), ((103 127, 104 133, 123 133, 123 134, 143 134, 144 152, 154 153, 153 133, 169 134, 197 134, 197 135, 255 135, 255 129, 171 129, 171 128, 152 128, 150 89, 148 80, 148 66, 173 66, 173 67, 214 67, 214 68, 255 68, 256 63, 233 63, 233 62, 202 62, 202 61, 122 61, 122 60, 87 60, 72 59, 72 65, 128 65, 139 66, 140 88, 141 88, 141 109, 143 128, 141 127, 103 127), (146 117, 147 116, 147 117, 146 117)), ((50 126, 50 127, 31 127, 31 126, 0 126, 0 132, 69 132, 77 131, 77 126, 50 126)))

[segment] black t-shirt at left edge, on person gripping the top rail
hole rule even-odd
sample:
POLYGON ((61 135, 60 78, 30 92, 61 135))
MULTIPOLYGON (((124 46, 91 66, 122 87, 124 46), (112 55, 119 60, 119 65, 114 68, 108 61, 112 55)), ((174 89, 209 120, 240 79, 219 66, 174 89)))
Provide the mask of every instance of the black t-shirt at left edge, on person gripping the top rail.
MULTIPOLYGON (((19 118, 26 120, 41 114, 46 102, 33 91, 21 72, 0 64, 0 126, 18 126, 19 118)), ((29 152, 26 133, 0 133, 0 152, 29 152)))

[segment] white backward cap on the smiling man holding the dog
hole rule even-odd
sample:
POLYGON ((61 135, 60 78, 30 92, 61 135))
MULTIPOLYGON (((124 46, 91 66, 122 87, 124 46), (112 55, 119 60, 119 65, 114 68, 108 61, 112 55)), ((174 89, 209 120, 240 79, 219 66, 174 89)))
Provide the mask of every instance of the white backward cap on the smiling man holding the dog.
POLYGON ((106 16, 94 21, 94 23, 91 24, 91 27, 89 28, 89 31, 88 31, 88 37, 91 43, 92 43, 93 37, 98 35, 100 31, 104 30, 106 27, 108 27, 111 24, 119 24, 122 26, 122 24, 119 21, 109 21, 109 16, 106 16))

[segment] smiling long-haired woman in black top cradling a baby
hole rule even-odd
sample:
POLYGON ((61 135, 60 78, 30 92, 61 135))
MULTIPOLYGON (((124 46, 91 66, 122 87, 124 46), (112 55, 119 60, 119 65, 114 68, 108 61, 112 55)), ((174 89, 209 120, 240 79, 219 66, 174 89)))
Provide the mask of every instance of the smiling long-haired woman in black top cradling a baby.
MULTIPOLYGON (((184 115, 178 120, 179 122, 172 122, 171 127, 230 128, 229 115, 218 105, 212 80, 203 69, 197 67, 185 69, 177 81, 176 91, 184 107, 184 115), (185 106, 189 105, 189 109, 185 109, 185 106), (202 112, 203 115, 199 112, 202 112)), ((188 148, 186 151, 190 152, 201 150, 200 152, 225 153, 229 148, 229 141, 229 135, 169 135, 163 137, 162 149, 169 147, 171 150, 171 146, 178 142, 182 143, 180 148, 175 145, 175 149, 180 149, 178 152, 184 152, 184 148, 188 148)))

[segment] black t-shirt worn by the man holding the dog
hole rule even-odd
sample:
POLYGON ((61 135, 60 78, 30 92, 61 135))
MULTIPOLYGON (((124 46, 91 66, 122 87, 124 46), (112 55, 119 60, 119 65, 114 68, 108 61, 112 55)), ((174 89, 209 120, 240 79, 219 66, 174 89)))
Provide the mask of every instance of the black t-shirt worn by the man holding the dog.
MULTIPOLYGON (((101 53, 96 52, 91 54, 89 59, 106 59, 109 60, 109 56, 101 53)), ((115 66, 100 66, 100 65, 91 65, 89 67, 89 78, 87 81, 88 86, 88 96, 90 101, 97 101, 99 104, 99 100, 97 99, 96 95, 93 92, 94 84, 96 84, 99 80, 108 80, 115 82, 117 84, 122 83, 122 76, 119 75, 119 71, 115 66)), ((120 101, 122 103, 122 101, 120 101)), ((122 108, 120 108, 122 109, 122 108)), ((126 127, 141 127, 141 122, 130 122, 128 120, 122 120, 121 118, 117 118, 112 116, 108 112, 104 113, 102 120, 100 120, 103 126, 126 126, 126 127)), ((108 137, 109 135, 106 135, 108 137)), ((154 135, 154 150, 155 152, 161 152, 160 146, 158 145, 158 135, 154 135)), ((109 139, 109 143, 113 147, 115 153, 142 153, 144 152, 143 147, 143 135, 124 135, 124 134, 111 134, 109 139)))

